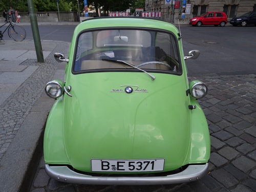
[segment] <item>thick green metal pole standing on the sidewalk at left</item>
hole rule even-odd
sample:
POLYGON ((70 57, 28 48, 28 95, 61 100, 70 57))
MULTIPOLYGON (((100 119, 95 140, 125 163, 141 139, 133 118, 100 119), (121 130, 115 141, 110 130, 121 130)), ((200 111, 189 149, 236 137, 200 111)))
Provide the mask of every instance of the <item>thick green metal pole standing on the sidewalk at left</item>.
POLYGON ((28 8, 29 8, 29 18, 30 18, 31 28, 32 28, 33 38, 34 38, 37 62, 45 62, 44 55, 42 54, 42 46, 41 46, 36 14, 34 11, 33 0, 28 0, 28 8))

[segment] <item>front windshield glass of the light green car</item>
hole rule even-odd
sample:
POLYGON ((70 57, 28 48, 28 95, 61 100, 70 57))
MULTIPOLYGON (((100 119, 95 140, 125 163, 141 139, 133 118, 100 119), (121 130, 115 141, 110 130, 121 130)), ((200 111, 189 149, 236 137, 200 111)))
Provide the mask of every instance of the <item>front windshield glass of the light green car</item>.
POLYGON ((176 36, 144 29, 101 29, 84 31, 76 41, 74 73, 138 68, 180 73, 176 36))

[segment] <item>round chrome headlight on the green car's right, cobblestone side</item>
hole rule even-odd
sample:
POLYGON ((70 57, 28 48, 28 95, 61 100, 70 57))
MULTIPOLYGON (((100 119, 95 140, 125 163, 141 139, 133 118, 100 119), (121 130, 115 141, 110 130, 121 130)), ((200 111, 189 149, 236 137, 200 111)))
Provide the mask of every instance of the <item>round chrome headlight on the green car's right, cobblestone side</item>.
POLYGON ((189 83, 190 94, 196 99, 201 99, 207 94, 207 87, 201 81, 191 81, 189 83))

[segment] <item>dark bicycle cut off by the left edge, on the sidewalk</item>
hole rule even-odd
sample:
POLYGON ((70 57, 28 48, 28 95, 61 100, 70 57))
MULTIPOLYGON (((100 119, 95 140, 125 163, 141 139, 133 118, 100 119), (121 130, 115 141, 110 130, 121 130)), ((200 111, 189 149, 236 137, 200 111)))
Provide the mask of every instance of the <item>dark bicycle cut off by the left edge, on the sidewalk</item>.
POLYGON ((12 22, 10 21, 10 16, 8 18, 9 22, 5 23, 4 25, 0 26, 0 29, 5 26, 6 24, 9 23, 9 26, 4 30, 4 32, 2 33, 2 31, 0 31, 0 40, 3 40, 3 34, 5 33, 5 31, 8 29, 8 35, 11 39, 15 40, 15 41, 23 41, 26 38, 26 31, 23 27, 21 26, 16 26, 15 24, 12 24, 12 22))

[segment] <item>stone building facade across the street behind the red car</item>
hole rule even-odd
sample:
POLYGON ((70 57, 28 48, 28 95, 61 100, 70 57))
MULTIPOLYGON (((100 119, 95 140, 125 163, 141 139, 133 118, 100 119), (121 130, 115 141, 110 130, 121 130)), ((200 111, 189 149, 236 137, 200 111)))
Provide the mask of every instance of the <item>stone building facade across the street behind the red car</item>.
POLYGON ((194 16, 208 11, 221 11, 230 19, 249 11, 256 11, 256 0, 145 0, 146 12, 161 12, 161 18, 187 23, 194 16), (183 15, 182 15, 183 13, 183 15))

